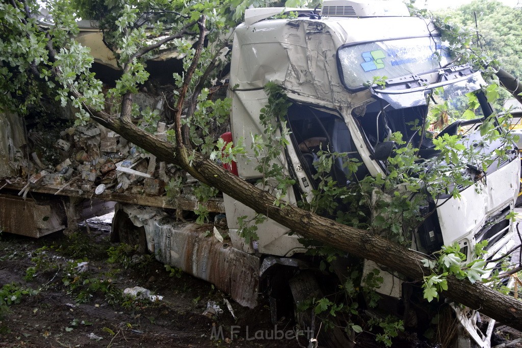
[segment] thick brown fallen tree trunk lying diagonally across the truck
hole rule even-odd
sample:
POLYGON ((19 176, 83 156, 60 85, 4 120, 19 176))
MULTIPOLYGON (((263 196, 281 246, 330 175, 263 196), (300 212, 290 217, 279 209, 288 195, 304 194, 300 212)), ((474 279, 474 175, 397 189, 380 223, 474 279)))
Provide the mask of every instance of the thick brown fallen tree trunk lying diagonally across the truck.
MULTIPOLYGON (((422 265, 421 260, 425 256, 416 251, 368 231, 339 224, 310 211, 294 206, 276 207, 273 204, 276 200, 274 196, 223 170, 198 152, 188 153, 184 147, 176 147, 171 143, 160 141, 120 118, 100 113, 95 113, 93 118, 137 146, 156 155, 160 161, 181 166, 201 182, 218 188, 256 212, 266 215, 304 237, 313 238, 352 255, 375 261, 406 275, 413 281, 422 282, 425 275, 431 274, 431 271, 422 265), (183 161, 189 154, 192 156, 192 165, 183 161)), ((444 296, 469 308, 479 310, 508 326, 522 330, 522 302, 511 296, 503 295, 484 284, 471 284, 467 280, 458 280, 453 276, 447 278, 447 283, 448 290, 443 293, 444 296)))

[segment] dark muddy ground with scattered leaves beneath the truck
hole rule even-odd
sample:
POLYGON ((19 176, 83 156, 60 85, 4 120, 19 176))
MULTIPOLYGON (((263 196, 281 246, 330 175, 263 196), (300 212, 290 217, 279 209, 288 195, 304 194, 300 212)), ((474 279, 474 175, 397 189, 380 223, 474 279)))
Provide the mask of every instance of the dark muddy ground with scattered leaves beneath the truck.
MULTIPOLYGON (((274 333, 268 301, 243 308, 207 282, 111 243, 110 225, 99 220, 72 235, 0 234, 1 298, 7 305, 0 301, 0 347, 305 346, 295 339, 291 318, 281 318, 274 333), (135 286, 163 298, 122 295, 135 286), (222 313, 205 315, 211 302, 222 313)), ((496 332, 493 345, 521 336, 505 326, 496 332)), ((364 333, 355 340, 380 346, 364 333)), ((394 346, 438 347, 411 336, 394 346)))

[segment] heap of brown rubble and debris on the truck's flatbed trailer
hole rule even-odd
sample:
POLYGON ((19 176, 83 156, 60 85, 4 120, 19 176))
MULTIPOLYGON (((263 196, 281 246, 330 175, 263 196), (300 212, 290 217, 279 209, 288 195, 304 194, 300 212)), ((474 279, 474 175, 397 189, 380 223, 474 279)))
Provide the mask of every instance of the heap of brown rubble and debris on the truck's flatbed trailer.
MULTIPOLYGON (((137 99, 142 107, 163 107, 157 98, 140 93, 137 99)), ((199 205, 188 186, 175 202, 167 197, 171 178, 183 175, 177 167, 157 161, 101 125, 64 129, 60 122, 51 122, 30 128, 15 116, 0 112, 0 151, 9 154, 2 156, 7 163, 0 171, 1 189, 17 190, 23 198, 33 191, 171 209, 194 210, 199 205)), ((155 128, 158 138, 167 138, 164 122, 155 128)), ((221 199, 206 205, 211 212, 224 212, 221 199)))

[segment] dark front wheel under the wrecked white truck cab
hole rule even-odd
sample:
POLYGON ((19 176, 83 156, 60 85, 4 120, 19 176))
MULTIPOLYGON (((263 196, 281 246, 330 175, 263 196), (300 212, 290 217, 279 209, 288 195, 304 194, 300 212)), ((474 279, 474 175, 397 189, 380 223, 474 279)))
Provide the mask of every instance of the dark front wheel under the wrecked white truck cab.
POLYGON ((324 328, 321 328, 321 321, 315 317, 313 308, 307 308, 304 311, 299 310, 300 304, 303 302, 312 298, 323 297, 317 279, 312 272, 299 273, 289 280, 289 285, 295 304, 295 322, 304 331, 304 337, 307 339, 309 347, 326 345, 332 348, 351 348, 355 345, 354 337, 349 337, 344 330, 346 323, 342 323, 338 316, 329 318, 333 321, 334 327, 325 331, 324 328), (313 341, 315 338, 318 342, 313 341))

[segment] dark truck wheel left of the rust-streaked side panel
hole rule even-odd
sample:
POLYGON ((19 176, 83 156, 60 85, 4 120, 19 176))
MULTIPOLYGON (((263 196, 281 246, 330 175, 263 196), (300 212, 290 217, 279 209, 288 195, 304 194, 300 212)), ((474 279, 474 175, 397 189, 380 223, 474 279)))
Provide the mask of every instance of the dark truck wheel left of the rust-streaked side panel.
POLYGON ((122 209, 116 209, 112 218, 111 242, 137 245, 138 253, 147 253, 147 237, 143 226, 136 227, 129 215, 122 209))

